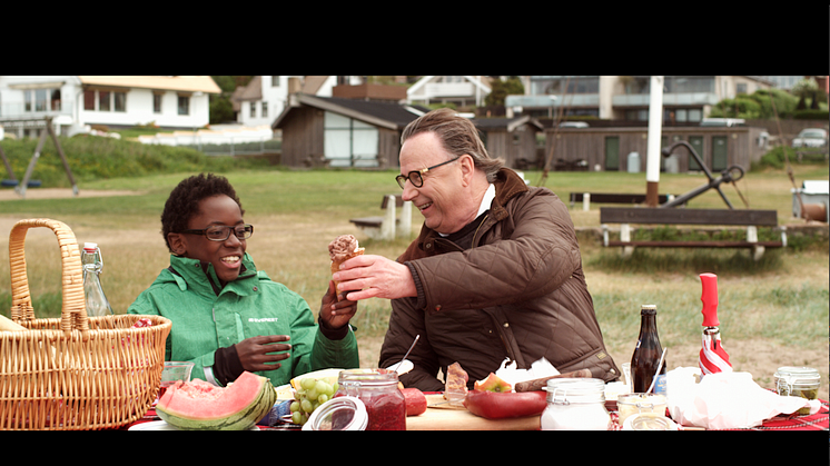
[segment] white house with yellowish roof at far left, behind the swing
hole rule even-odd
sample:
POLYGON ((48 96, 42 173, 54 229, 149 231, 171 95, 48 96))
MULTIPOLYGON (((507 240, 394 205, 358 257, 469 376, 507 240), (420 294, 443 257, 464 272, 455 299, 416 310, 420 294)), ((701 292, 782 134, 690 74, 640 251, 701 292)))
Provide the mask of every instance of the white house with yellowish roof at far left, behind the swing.
POLYGON ((46 117, 58 135, 93 126, 202 128, 209 95, 221 90, 209 76, 0 76, 0 126, 14 137, 37 137, 46 117))

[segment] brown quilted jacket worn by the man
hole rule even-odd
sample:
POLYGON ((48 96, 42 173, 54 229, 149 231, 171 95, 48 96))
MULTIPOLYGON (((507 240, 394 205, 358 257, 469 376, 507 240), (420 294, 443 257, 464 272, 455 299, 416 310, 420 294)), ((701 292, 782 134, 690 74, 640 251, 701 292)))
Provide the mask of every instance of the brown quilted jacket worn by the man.
POLYGON ((443 390, 437 374, 455 361, 472 387, 507 357, 518 368, 545 357, 560 373, 589 368, 616 379, 567 208, 508 169, 495 187, 471 249, 423 227, 397 259, 415 271, 419 296, 392 301, 378 367, 399 361, 419 335, 408 356, 415 368, 401 380, 422 390, 443 390))

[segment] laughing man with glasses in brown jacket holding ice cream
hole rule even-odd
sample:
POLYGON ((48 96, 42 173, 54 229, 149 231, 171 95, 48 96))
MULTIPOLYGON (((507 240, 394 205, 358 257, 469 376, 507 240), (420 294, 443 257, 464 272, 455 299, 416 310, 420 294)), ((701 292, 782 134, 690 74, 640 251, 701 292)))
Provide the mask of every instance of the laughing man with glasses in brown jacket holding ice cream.
POLYGON ((448 109, 409 123, 397 181, 424 216, 396 260, 365 255, 334 275, 348 299, 392 299, 378 367, 407 357, 407 387, 441 391, 457 361, 473 381, 505 358, 530 368, 545 357, 567 373, 611 381, 605 350, 565 205, 492 159, 473 123, 448 109))

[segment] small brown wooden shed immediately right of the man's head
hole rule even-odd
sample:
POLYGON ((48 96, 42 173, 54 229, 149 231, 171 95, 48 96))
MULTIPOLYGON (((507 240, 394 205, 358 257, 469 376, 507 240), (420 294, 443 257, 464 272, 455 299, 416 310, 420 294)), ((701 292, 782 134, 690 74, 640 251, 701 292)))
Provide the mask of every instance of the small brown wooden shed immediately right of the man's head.
POLYGON ((536 167, 536 133, 544 126, 530 116, 518 118, 476 118, 484 146, 493 158, 501 157, 507 167, 527 169, 536 167))

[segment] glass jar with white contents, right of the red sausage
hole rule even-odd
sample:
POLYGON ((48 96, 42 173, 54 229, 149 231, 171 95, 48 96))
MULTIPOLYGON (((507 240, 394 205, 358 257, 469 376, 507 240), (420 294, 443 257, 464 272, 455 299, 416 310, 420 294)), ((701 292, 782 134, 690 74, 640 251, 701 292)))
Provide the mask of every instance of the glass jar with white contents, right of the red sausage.
POLYGON ((601 379, 553 378, 545 390, 542 430, 609 429, 611 415, 605 409, 605 383, 601 379))

